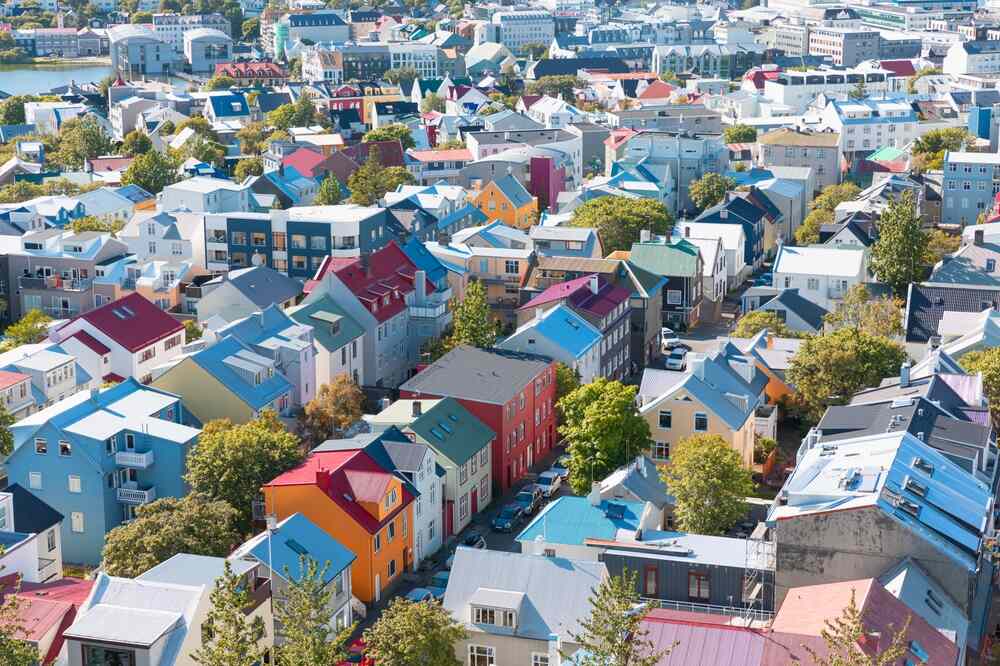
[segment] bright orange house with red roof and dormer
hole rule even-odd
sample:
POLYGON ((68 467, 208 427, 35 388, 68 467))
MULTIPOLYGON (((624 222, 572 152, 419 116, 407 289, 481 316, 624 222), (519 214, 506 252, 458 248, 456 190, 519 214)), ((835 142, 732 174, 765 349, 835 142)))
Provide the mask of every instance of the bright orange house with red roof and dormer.
POLYGON ((268 514, 301 513, 356 556, 354 596, 374 603, 413 565, 414 496, 364 451, 313 451, 264 486, 268 514))

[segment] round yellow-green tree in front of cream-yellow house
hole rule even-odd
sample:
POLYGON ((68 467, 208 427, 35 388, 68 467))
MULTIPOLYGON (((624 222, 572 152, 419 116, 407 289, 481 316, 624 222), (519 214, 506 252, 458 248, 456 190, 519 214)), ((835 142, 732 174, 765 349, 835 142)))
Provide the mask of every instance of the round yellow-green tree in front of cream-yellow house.
POLYGON ((696 434, 677 442, 664 473, 677 499, 674 517, 680 529, 695 534, 722 534, 746 515, 753 492, 750 470, 720 435, 696 434))

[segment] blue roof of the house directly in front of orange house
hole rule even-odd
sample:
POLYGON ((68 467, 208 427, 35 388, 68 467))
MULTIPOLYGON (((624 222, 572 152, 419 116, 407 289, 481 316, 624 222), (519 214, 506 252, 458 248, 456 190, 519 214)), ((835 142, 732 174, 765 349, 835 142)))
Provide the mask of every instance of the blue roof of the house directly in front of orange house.
POLYGON ((299 558, 302 556, 315 560, 321 568, 329 563, 323 576, 324 583, 336 578, 356 559, 354 553, 301 513, 293 513, 278 523, 277 529, 271 533, 270 546, 266 532, 249 543, 252 544, 250 555, 271 567, 274 573, 293 582, 297 582, 301 575, 299 558))

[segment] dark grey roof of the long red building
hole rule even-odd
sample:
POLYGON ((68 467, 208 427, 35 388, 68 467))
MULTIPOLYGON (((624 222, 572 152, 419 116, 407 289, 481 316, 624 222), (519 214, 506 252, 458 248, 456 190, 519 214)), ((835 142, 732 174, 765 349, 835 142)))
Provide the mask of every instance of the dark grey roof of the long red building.
POLYGON ((460 345, 411 377, 399 390, 503 405, 551 363, 537 354, 460 345))

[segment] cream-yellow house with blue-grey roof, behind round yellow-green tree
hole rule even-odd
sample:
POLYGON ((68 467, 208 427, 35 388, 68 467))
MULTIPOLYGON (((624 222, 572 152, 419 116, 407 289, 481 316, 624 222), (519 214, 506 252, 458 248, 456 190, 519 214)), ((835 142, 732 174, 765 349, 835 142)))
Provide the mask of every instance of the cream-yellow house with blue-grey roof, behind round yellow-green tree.
POLYGON ((650 457, 670 461, 671 447, 691 435, 719 435, 753 464, 757 406, 767 377, 731 344, 709 354, 689 353, 683 373, 646 370, 639 414, 649 424, 650 457))

